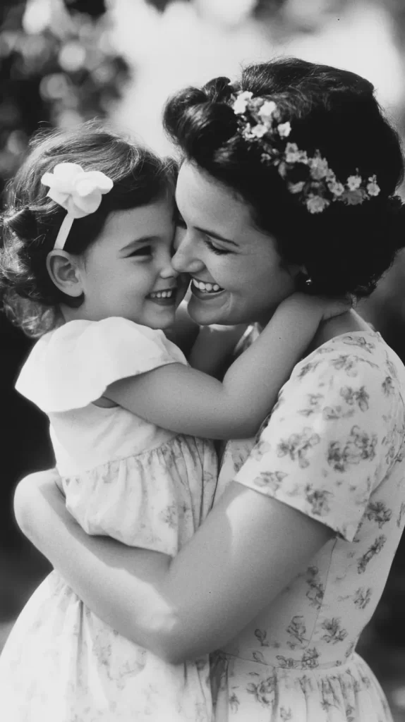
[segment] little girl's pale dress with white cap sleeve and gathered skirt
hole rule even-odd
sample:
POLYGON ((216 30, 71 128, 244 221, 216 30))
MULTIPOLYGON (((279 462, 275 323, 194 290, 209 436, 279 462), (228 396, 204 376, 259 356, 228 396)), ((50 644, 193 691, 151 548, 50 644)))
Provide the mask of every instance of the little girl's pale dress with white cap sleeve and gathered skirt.
MULTIPOLYGON (((51 422, 66 507, 87 534, 174 555, 212 505, 212 443, 174 435, 121 406, 120 378, 186 364, 162 331, 124 318, 72 321, 32 349, 17 390, 51 422)), ((4 722, 210 722, 208 659, 170 665, 105 625, 53 571, 0 658, 4 722)))

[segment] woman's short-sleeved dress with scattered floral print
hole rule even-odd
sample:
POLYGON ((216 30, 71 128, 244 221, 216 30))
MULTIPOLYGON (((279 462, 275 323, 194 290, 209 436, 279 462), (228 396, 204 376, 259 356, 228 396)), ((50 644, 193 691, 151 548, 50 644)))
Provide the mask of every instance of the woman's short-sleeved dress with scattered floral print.
POLYGON ((391 720, 354 650, 404 529, 404 391, 380 334, 336 336, 297 364, 256 445, 227 445, 217 497, 235 479, 334 536, 212 656, 216 722, 391 720))

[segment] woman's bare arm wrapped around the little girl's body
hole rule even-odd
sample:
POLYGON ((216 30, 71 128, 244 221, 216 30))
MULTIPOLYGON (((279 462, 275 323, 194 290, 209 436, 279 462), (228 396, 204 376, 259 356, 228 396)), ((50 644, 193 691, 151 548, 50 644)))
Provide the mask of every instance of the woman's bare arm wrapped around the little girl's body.
POLYGON ((173 560, 85 534, 66 512, 53 472, 20 482, 15 512, 98 617, 173 664, 232 639, 333 534, 235 482, 173 560))

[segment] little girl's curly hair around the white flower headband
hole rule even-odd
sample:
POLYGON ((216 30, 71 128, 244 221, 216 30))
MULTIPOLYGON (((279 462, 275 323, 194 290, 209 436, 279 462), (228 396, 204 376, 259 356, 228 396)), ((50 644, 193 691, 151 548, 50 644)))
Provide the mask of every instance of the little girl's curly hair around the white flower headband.
POLYGON ((95 213, 74 220, 65 251, 82 254, 100 234, 112 211, 144 206, 174 193, 175 164, 100 126, 84 123, 71 131, 40 133, 9 186, 1 215, 0 293, 4 310, 29 336, 57 323, 58 304, 80 305, 83 297, 65 295, 51 281, 46 258, 53 249, 66 211, 47 197, 40 182, 57 163, 100 170, 113 181, 95 213))

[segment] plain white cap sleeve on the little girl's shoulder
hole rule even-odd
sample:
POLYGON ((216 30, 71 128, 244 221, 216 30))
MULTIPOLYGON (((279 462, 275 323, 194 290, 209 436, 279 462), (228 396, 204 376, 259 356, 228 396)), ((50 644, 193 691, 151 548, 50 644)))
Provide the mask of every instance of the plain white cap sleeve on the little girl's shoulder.
POLYGON ((16 389, 45 413, 81 409, 121 378, 170 364, 187 364, 158 329, 126 318, 70 321, 32 349, 16 389))

